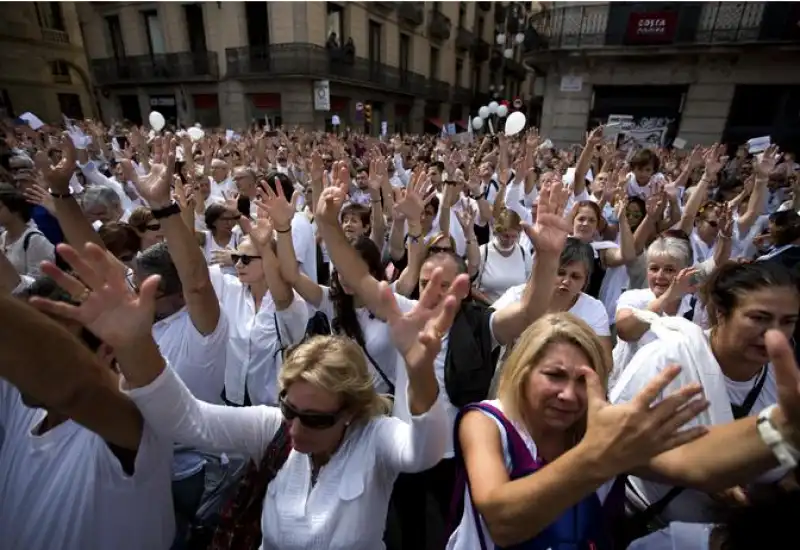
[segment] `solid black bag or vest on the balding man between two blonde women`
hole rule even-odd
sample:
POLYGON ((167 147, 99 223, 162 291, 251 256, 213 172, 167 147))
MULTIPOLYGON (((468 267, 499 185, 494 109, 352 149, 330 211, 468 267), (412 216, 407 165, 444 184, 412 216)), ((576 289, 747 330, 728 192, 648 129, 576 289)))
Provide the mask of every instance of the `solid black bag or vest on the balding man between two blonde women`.
POLYGON ((496 364, 489 327, 492 311, 482 303, 465 301, 453 321, 444 360, 444 386, 456 407, 489 395, 496 364))

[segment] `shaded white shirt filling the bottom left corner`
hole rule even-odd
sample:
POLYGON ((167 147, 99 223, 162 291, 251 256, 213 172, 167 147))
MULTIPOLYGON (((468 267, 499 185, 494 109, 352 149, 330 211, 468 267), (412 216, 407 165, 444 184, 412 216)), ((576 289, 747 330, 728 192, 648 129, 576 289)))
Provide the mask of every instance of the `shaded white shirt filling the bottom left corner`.
POLYGON ((45 415, 0 379, 2 547, 167 550, 175 533, 171 442, 145 423, 129 476, 100 436, 72 420, 33 435, 45 415))

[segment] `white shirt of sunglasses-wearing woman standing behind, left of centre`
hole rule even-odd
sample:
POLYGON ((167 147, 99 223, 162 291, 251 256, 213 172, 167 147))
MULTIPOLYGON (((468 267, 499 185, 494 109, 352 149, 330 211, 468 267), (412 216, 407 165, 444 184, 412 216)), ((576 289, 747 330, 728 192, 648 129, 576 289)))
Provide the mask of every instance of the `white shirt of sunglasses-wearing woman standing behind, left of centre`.
POLYGON ((226 398, 241 405, 246 389, 254 404, 277 403, 281 349, 297 344, 305 335, 309 319, 305 300, 295 293, 288 308, 276 311, 272 295, 267 292, 256 311, 250 289, 238 278, 225 275, 219 266, 211 266, 208 271, 229 322, 226 398))

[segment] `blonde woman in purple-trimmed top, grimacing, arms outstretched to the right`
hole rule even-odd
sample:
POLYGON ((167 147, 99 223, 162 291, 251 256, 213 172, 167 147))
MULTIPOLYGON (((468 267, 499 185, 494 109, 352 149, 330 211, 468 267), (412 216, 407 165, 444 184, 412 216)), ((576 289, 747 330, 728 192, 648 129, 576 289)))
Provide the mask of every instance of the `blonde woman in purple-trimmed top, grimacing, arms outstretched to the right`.
MULTIPOLYGON (((768 421, 796 445, 800 373, 785 337, 772 332, 782 390, 768 421)), ((623 405, 605 399, 607 370, 603 346, 571 314, 528 327, 508 357, 498 399, 466 407, 456 421, 464 512, 448 550, 608 549, 606 518, 622 513, 617 476, 714 490, 777 463, 755 419, 683 429, 708 403, 698 384, 663 394, 680 367, 665 367, 623 405)))

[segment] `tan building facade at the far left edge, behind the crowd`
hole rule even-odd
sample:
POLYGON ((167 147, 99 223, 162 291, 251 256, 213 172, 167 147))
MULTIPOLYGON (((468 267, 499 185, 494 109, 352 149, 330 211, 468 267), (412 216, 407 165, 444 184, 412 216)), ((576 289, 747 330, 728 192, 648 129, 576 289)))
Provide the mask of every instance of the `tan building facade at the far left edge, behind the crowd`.
POLYGON ((0 117, 25 112, 52 123, 96 114, 74 2, 3 3, 0 117))

